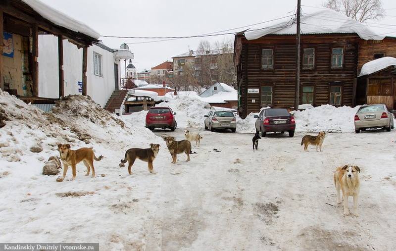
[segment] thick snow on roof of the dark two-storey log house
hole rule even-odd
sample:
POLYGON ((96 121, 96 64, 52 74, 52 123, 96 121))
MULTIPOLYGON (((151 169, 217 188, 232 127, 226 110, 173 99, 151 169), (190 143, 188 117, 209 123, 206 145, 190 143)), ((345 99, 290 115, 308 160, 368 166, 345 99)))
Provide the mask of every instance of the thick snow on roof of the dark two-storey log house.
MULTIPOLYGON (((261 38, 268 34, 296 34, 297 23, 284 17, 265 23, 264 27, 250 28, 245 32, 247 40, 261 38)), ((364 40, 383 40, 380 35, 364 24, 328 8, 304 7, 301 12, 301 34, 356 33, 364 40)))

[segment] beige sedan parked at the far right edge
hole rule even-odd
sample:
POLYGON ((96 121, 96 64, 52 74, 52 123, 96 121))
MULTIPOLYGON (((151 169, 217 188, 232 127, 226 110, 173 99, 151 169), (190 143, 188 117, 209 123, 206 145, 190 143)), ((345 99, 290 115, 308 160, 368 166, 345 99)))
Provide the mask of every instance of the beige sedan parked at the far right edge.
POLYGON ((387 132, 395 127, 395 110, 388 110, 385 104, 362 105, 355 115, 355 132, 365 131, 368 128, 385 128, 387 132))

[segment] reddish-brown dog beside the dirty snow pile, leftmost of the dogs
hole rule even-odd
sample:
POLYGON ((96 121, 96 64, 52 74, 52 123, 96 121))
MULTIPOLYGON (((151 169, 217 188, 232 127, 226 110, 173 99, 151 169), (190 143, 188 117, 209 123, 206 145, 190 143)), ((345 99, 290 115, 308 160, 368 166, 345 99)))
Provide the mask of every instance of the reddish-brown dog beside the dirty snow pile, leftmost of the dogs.
POLYGON ((80 148, 78 150, 71 150, 70 145, 58 145, 58 150, 60 153, 60 160, 63 163, 63 178, 65 178, 66 173, 67 173, 67 168, 71 166, 72 173, 73 173, 73 178, 74 180, 76 178, 76 165, 80 163, 81 161, 84 162, 84 165, 87 167, 87 173, 85 175, 90 174, 90 170, 92 169, 92 177, 95 177, 95 168, 94 168, 94 159, 96 161, 99 161, 102 159, 102 155, 97 158, 95 156, 94 151, 90 148, 80 148))

